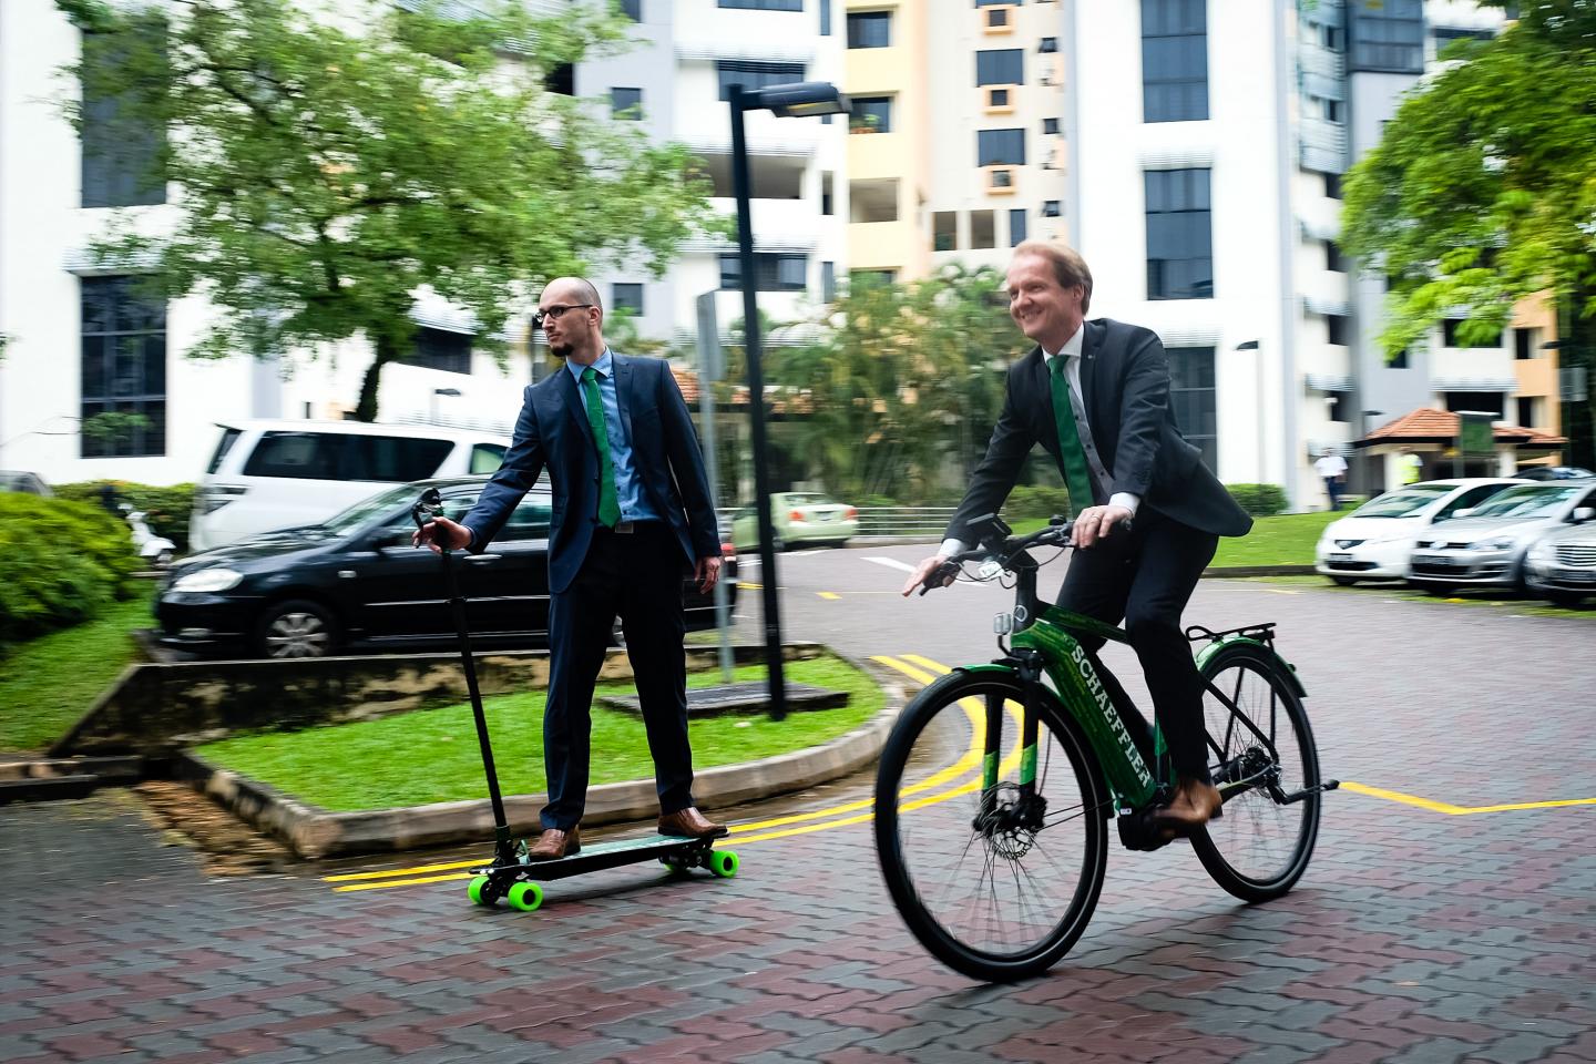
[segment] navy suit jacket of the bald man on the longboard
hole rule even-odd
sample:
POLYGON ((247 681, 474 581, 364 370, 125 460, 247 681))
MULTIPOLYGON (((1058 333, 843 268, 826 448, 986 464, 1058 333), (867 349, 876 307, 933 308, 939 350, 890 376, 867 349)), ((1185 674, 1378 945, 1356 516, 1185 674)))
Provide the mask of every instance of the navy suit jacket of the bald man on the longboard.
MULTIPOLYGON (((664 359, 610 354, 632 463, 654 512, 681 544, 678 562, 691 568, 697 558, 720 557, 704 456, 670 367, 664 359)), ((471 530, 472 554, 487 549, 544 469, 554 488, 549 590, 560 593, 583 568, 598 525, 598 450, 581 389, 565 368, 527 388, 504 464, 460 520, 471 530)))

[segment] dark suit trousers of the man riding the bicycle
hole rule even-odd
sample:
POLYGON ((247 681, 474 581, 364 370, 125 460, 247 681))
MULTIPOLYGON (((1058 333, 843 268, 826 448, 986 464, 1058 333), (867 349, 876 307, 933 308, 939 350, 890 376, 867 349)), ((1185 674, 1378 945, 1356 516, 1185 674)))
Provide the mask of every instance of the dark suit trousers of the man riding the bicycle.
MULTIPOLYGON (((1058 592, 1063 609, 1106 624, 1125 622, 1175 772, 1203 782, 1208 782, 1203 681, 1181 627, 1181 613, 1218 546, 1219 538, 1213 533, 1143 506, 1128 536, 1116 531, 1069 555, 1069 571, 1058 592)), ((1095 652, 1103 640, 1082 638, 1080 644, 1095 652)))

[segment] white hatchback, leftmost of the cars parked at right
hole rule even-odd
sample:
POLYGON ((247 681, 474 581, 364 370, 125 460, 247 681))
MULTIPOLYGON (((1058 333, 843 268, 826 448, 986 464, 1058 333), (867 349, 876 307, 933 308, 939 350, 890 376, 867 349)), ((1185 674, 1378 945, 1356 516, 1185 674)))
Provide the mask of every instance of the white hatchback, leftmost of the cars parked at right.
POLYGON ((1515 483, 1524 482, 1505 477, 1425 480, 1374 496, 1325 528, 1314 549, 1314 569, 1342 585, 1404 579, 1412 542, 1420 533, 1515 483))

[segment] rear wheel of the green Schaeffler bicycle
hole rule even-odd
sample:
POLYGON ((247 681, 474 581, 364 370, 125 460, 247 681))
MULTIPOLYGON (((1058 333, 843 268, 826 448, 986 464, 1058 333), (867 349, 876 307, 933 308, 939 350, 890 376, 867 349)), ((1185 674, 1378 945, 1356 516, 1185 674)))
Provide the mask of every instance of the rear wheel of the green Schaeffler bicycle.
POLYGON ((1208 740, 1219 748, 1208 750, 1215 783, 1253 783, 1227 793, 1224 817, 1194 833, 1192 849, 1213 881, 1243 901, 1269 901, 1291 890, 1318 837, 1321 796, 1301 794, 1318 786, 1318 750, 1302 700, 1282 670, 1274 654, 1251 644, 1227 646, 1202 668, 1224 692, 1224 700, 1211 689, 1203 692, 1208 740), (1282 801, 1286 794, 1301 798, 1282 801))

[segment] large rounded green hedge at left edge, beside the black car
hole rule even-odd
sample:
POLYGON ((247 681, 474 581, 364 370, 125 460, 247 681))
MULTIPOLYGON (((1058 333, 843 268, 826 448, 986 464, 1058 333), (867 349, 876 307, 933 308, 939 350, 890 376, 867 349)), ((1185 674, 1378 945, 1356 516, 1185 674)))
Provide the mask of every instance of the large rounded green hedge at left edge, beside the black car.
POLYGON ((97 506, 0 493, 0 644, 128 598, 142 568, 128 525, 97 506))

